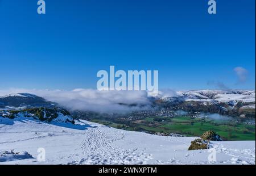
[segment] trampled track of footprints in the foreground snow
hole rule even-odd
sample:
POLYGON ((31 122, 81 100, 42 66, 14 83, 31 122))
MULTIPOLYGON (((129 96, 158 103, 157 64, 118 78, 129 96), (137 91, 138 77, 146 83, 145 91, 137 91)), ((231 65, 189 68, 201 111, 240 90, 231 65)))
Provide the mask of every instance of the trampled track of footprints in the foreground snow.
POLYGON ((121 149, 113 143, 124 138, 125 133, 118 129, 90 128, 81 144, 85 157, 78 163, 71 164, 146 164, 146 161, 150 160, 150 155, 144 154, 138 148, 121 149), (114 135, 108 135, 113 132, 114 135))

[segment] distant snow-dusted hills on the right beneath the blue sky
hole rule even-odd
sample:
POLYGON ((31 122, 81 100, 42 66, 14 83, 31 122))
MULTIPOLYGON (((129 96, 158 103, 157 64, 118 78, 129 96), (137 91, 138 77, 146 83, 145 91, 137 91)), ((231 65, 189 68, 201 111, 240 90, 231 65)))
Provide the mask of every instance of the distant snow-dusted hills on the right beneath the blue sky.
POLYGON ((193 90, 177 91, 172 96, 163 92, 159 95, 158 103, 169 109, 255 118, 255 91, 193 90))

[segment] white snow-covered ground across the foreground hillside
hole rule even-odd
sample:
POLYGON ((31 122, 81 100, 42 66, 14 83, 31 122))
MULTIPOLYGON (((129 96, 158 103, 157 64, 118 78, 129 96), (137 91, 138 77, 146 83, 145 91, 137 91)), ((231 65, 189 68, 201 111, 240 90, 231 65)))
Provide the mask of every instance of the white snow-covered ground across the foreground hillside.
POLYGON ((216 162, 209 162, 214 152, 187 150, 194 139, 123 131, 84 120, 73 125, 0 117, 0 154, 13 149, 32 156, 2 155, 5 162, 0 164, 255 164, 255 141, 212 142, 216 162), (45 162, 37 160, 39 148, 46 150, 45 162))

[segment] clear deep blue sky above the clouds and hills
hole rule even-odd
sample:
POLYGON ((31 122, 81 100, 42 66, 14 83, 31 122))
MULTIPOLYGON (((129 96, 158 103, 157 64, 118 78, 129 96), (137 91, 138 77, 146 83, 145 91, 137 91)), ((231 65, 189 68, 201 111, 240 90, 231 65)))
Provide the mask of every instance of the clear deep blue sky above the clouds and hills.
POLYGON ((160 89, 255 89, 255 1, 207 2, 0 0, 0 89, 96 89, 110 65, 159 70, 160 89))

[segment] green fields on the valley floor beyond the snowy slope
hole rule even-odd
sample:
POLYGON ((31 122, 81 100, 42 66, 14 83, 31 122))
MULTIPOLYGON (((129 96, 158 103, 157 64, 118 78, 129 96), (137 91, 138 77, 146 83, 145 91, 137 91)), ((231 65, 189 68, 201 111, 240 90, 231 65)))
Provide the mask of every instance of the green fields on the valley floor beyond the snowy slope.
POLYGON ((148 133, 180 133, 186 136, 201 136, 205 131, 212 130, 224 140, 255 140, 255 125, 237 123, 235 121, 212 120, 178 116, 162 118, 152 116, 135 121, 115 121, 112 119, 93 119, 92 121, 114 128, 148 133))

